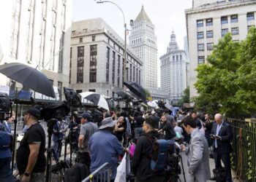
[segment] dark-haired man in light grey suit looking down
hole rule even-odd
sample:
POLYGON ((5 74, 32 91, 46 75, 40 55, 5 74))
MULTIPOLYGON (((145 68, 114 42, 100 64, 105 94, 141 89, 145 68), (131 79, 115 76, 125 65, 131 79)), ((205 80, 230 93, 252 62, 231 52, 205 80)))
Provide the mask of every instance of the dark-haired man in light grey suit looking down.
POLYGON ((211 171, 206 137, 198 130, 195 119, 192 116, 184 118, 183 126, 186 132, 191 134, 189 148, 186 149, 184 145, 181 145, 182 150, 186 150, 187 154, 188 181, 208 181, 211 178, 211 171))

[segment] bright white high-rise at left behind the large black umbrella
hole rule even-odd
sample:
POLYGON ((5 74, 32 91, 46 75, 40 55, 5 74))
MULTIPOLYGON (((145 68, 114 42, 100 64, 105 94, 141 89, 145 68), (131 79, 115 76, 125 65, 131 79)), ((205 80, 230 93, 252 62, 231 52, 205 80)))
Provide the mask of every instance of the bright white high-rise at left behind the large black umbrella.
MULTIPOLYGON (((1 1, 0 14, 1 64, 19 62, 37 67, 57 88, 56 97, 63 99, 63 87, 69 87, 72 1, 1 1)), ((5 76, 0 78, 1 86, 11 90, 22 87, 5 76)))

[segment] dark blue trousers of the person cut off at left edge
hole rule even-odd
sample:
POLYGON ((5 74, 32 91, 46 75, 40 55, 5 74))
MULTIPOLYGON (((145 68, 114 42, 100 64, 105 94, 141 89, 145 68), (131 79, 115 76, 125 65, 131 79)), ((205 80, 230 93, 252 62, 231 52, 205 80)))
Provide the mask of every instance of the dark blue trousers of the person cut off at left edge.
POLYGON ((13 181, 10 167, 12 157, 0 159, 0 181, 13 181))

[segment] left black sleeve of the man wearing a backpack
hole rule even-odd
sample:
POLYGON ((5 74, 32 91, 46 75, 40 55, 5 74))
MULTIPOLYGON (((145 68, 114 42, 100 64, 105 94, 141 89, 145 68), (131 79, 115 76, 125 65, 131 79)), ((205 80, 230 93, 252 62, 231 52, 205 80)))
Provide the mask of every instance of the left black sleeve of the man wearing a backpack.
POLYGON ((135 146, 135 154, 132 158, 132 173, 134 173, 135 176, 137 173, 138 166, 140 165, 142 150, 143 150, 143 138, 140 137, 138 140, 138 143, 135 146))

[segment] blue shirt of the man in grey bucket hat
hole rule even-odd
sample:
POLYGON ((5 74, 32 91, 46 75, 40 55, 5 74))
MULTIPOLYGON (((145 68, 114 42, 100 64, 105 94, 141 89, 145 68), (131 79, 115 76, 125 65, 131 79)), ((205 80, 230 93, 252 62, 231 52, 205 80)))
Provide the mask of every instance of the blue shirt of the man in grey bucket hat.
POLYGON ((123 151, 123 147, 116 136, 108 130, 99 130, 99 132, 91 135, 88 149, 91 154, 91 173, 108 162, 112 170, 111 180, 115 179, 118 155, 123 151))

